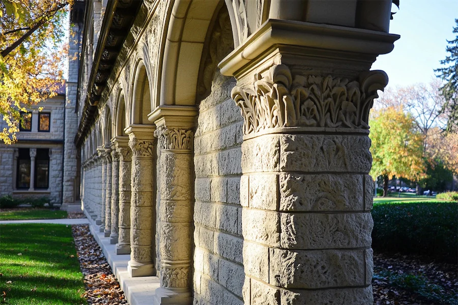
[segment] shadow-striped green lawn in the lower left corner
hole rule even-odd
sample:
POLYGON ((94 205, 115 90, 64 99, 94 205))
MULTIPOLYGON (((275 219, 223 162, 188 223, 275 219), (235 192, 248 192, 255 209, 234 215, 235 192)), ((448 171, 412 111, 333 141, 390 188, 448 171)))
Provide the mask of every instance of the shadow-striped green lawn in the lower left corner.
POLYGON ((87 304, 70 226, 0 225, 0 238, 0 303, 87 304))

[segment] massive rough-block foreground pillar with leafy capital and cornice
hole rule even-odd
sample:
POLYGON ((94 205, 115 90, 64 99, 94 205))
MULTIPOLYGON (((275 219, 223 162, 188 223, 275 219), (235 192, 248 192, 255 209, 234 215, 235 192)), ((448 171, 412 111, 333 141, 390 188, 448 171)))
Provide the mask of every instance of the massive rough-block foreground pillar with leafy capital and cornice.
POLYGON ((368 70, 397 36, 282 20, 258 34, 220 63, 244 118, 244 302, 371 304, 368 115, 388 79, 368 70))

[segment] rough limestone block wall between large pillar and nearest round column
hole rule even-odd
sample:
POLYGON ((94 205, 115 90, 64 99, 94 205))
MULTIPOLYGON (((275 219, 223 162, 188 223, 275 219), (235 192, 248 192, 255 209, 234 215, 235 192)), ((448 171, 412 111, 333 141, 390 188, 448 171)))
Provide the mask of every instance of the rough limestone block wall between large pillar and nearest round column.
POLYGON ((214 81, 210 96, 199 105, 194 139, 195 304, 243 304, 243 123, 230 97, 234 85, 234 79, 214 81))

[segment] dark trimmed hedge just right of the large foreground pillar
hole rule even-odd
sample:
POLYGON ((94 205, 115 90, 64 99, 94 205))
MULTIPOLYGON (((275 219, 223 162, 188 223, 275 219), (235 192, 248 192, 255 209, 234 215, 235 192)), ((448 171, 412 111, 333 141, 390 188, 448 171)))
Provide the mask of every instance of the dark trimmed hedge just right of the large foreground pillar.
POLYGON ((457 262, 457 203, 379 203, 374 205, 372 217, 375 250, 457 262))

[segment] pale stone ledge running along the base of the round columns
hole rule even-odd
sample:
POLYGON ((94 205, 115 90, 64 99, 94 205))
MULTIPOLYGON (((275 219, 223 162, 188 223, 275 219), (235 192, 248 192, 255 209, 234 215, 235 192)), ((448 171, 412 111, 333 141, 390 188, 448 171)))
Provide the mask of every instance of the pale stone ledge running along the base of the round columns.
POLYGON ((97 243, 102 248, 108 264, 111 266, 113 274, 119 281, 121 289, 130 305, 153 305, 155 299, 156 288, 159 288, 158 277, 140 277, 131 278, 127 271, 127 262, 130 260, 130 255, 117 255, 116 245, 110 244, 110 238, 104 237, 103 233, 99 232, 99 226, 92 220, 87 209, 84 209, 84 214, 89 220, 89 228, 91 234, 97 240, 97 243))

